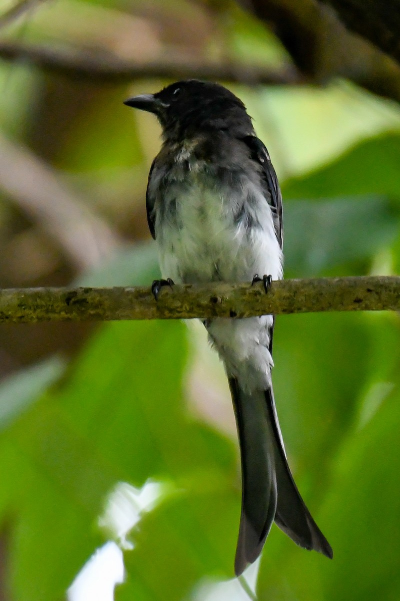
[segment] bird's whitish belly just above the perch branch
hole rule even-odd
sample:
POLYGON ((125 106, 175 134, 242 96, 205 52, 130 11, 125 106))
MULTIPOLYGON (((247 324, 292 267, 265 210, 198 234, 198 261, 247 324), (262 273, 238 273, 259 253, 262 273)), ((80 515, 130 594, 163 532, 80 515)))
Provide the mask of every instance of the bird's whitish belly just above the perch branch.
MULTIPOLYGON (((265 198, 255 187, 248 219, 234 218, 242 198, 227 198, 193 178, 187 194, 169 190, 164 202, 175 214, 156 219, 156 240, 163 277, 176 282, 251 281, 255 273, 282 278, 282 252, 265 198)), ((245 192, 242 191, 244 194, 245 192)))

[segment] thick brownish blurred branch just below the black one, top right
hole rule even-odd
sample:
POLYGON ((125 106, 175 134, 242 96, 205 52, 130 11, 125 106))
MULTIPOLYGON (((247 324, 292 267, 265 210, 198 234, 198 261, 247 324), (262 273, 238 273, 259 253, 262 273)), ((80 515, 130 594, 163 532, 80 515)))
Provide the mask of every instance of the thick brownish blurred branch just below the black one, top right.
MULTIPOLYGON (((240 1, 275 32, 309 81, 326 84, 333 78, 347 78, 374 94, 400 102, 399 63, 375 47, 367 35, 346 29, 329 5, 315 0, 240 1)), ((360 0, 353 1, 361 6, 360 0)), ((363 2, 365 11, 373 1, 363 2)), ((351 4, 351 0, 334 2, 351 4)), ((381 2, 382 11, 384 7, 386 2, 381 2)), ((399 19, 400 11, 396 21, 399 19)))

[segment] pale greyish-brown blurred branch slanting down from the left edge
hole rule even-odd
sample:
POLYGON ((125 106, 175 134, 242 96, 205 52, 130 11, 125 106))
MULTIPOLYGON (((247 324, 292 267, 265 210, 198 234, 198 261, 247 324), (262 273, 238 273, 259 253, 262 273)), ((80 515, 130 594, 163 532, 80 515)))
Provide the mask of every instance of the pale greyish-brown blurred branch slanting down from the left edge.
POLYGON ((62 246, 78 269, 97 264, 118 245, 108 225, 26 148, 0 137, 0 190, 62 246))

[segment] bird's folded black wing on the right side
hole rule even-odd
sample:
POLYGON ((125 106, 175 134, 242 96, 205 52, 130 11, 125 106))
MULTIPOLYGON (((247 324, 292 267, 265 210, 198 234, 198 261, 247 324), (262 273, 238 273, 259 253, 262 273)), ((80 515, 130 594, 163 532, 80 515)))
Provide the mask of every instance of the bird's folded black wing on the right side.
POLYGON ((263 142, 255 136, 245 136, 243 142, 248 146, 251 152, 251 158, 261 166, 264 185, 266 188, 266 198, 272 209, 275 233, 279 245, 283 244, 283 223, 282 223, 282 194, 279 188, 278 177, 272 166, 268 151, 263 142))

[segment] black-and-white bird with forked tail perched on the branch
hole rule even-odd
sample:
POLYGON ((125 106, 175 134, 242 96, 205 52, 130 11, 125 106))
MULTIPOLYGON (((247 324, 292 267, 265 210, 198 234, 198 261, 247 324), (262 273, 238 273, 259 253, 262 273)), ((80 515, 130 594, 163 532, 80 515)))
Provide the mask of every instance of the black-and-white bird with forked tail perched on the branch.
MULTIPOLYGON (((262 280, 267 293, 283 277, 282 196, 243 102, 222 85, 188 79, 125 105, 155 114, 162 130, 146 191, 163 278, 152 284, 155 299, 174 283, 262 280)), ((225 367, 239 437, 236 576, 261 554, 274 520, 300 547, 332 558, 287 462, 271 380, 275 317, 203 323, 225 367)))

